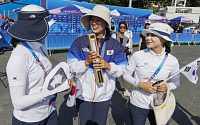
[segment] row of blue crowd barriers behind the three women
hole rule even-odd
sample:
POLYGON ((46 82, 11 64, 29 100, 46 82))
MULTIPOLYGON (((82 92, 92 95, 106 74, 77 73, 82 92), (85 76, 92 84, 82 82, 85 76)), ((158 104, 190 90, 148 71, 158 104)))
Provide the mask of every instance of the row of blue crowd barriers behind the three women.
MULTIPOLYGON (((87 35, 88 33, 49 33, 45 39, 45 45, 48 50, 55 49, 68 49, 72 45, 73 41, 79 36, 87 35)), ((11 36, 7 34, 7 31, 0 31, 2 38, 0 39, 0 46, 12 46, 10 43, 11 36)), ((133 45, 139 44, 140 33, 133 33, 133 45)), ((200 43, 200 34, 188 34, 188 33, 172 33, 170 39, 173 42, 180 43, 200 43)), ((196 44, 195 44, 196 45, 196 44)))

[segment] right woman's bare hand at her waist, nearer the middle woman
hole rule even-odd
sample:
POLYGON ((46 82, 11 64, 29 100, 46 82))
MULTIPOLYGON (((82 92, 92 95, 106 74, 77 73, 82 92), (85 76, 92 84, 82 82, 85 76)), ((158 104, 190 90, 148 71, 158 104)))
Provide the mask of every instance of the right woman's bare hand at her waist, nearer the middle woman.
POLYGON ((153 84, 153 82, 139 82, 138 87, 148 93, 154 94, 154 93, 156 93, 157 88, 152 86, 152 84, 153 84))

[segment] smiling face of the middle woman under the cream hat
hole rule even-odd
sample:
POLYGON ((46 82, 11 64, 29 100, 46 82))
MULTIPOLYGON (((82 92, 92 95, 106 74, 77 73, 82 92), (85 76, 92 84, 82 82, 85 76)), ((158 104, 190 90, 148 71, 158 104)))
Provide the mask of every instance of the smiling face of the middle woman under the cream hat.
POLYGON ((105 28, 108 26, 106 21, 104 21, 102 18, 92 16, 90 18, 90 27, 92 31, 98 36, 102 36, 105 33, 105 28))

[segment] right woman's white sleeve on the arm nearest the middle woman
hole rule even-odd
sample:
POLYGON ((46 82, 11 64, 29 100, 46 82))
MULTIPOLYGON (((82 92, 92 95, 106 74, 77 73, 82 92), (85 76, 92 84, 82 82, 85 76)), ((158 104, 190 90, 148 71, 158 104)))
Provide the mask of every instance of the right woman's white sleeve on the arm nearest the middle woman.
POLYGON ((136 57, 135 54, 131 56, 129 59, 128 65, 126 66, 125 73, 123 75, 124 80, 126 80, 128 83, 133 85, 134 87, 138 88, 138 83, 140 81, 136 80, 135 78, 132 77, 133 72, 135 71, 136 68, 136 57))

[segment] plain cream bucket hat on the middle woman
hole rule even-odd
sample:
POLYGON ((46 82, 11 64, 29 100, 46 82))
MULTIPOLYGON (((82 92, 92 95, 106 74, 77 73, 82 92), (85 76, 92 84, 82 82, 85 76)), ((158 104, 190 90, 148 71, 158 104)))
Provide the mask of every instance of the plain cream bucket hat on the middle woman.
POLYGON ((91 29, 90 27, 91 16, 97 16, 97 17, 102 18, 108 23, 109 28, 111 27, 110 10, 107 7, 96 5, 91 12, 81 17, 81 24, 86 30, 91 29))

